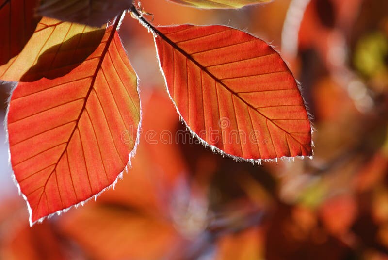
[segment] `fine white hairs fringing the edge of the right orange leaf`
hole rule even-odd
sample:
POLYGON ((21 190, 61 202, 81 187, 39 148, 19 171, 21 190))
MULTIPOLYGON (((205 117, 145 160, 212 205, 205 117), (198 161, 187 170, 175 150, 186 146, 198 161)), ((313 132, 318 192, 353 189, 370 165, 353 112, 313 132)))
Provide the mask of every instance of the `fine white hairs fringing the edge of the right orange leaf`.
MULTIPOLYGON (((294 156, 294 157, 282 156, 282 157, 280 157, 280 158, 272 158, 272 159, 245 159, 245 158, 242 158, 242 157, 239 157, 239 156, 234 156, 234 155, 228 154, 228 153, 224 152, 223 150, 221 150, 220 148, 218 148, 218 147, 216 147, 216 146, 213 146, 213 145, 210 145, 208 142, 206 142, 206 141, 203 140, 201 137, 199 137, 198 134, 196 134, 193 130, 191 130, 191 128, 189 127, 189 125, 188 125, 188 124, 186 123, 186 121, 183 119, 183 116, 180 114, 180 112, 179 112, 179 110, 178 110, 178 106, 176 105, 174 99, 171 97, 170 92, 169 92, 169 90, 168 90, 167 78, 166 78, 166 76, 165 76, 165 74, 164 74, 164 71, 163 71, 163 69, 162 69, 162 64, 161 64, 161 61, 160 61, 160 59, 159 59, 159 51, 158 51, 158 47, 157 47, 157 44, 156 44, 156 38, 157 38, 157 37, 160 37, 160 36, 158 35, 158 33, 155 32, 155 30, 154 30, 149 24, 145 23, 142 19, 138 19, 138 20, 140 21, 140 23, 141 23, 142 25, 144 25, 144 26, 148 29, 148 31, 151 31, 152 34, 153 34, 153 36, 154 36, 154 43, 155 43, 155 49, 156 49, 156 58, 157 58, 157 60, 158 60, 159 69, 160 69, 160 71, 161 71, 161 73, 162 73, 162 76, 163 76, 163 79, 164 79, 164 84, 165 84, 166 92, 167 92, 167 95, 168 95, 168 97, 170 98, 170 100, 173 102, 175 109, 177 110, 177 113, 178 113, 178 115, 179 115, 180 121, 181 121, 182 123, 184 123, 184 125, 185 125, 186 128, 187 128, 187 130, 189 130, 190 133, 192 134, 192 136, 196 137, 196 138, 199 140, 199 142, 200 142, 203 146, 205 146, 206 148, 210 148, 211 151, 212 151, 213 153, 215 153, 215 154, 220 154, 220 155, 223 156, 223 157, 232 158, 232 159, 235 160, 236 162, 250 162, 250 163, 252 163, 253 165, 255 165, 255 163, 257 163, 258 165, 261 165, 261 162, 262 162, 262 161, 263 161, 263 162, 276 162, 276 163, 277 163, 278 160, 280 160, 280 161, 288 160, 288 161, 290 162, 290 161, 294 161, 295 158, 299 158, 299 159, 302 159, 302 160, 305 159, 305 158, 309 158, 310 160, 313 159, 313 155, 314 155, 313 149, 312 149, 312 152, 311 152, 311 156, 297 155, 297 156, 294 156)), ((188 24, 188 25, 193 25, 193 24, 188 24)), ((174 26, 174 25, 172 25, 172 26, 174 26)), ((193 26, 206 26, 206 25, 193 25, 193 26)), ((236 28, 234 28, 234 27, 232 27, 232 26, 226 26, 226 25, 220 25, 220 26, 225 26, 225 27, 229 27, 229 28, 232 28, 232 29, 235 29, 235 30, 239 30, 239 29, 236 29, 236 28)), ((170 25, 170 26, 162 26, 162 27, 171 27, 171 25, 170 25)), ((239 31, 241 31, 241 30, 239 30, 239 31)), ((247 32, 244 32, 244 33, 247 33, 247 32)), ((253 36, 253 37, 259 39, 259 37, 255 36, 255 35, 253 35, 253 34, 251 34, 251 33, 248 33, 248 34, 250 34, 251 36, 253 36)), ((267 43, 267 44, 268 44, 268 43, 267 43)), ((277 52, 276 49, 274 49, 270 44, 268 44, 268 46, 270 46, 275 52, 277 52)), ((277 53, 280 55, 279 52, 277 52, 277 53)), ((281 57, 281 55, 280 55, 280 57, 281 57)), ((283 59, 283 58, 282 58, 282 59, 283 59)), ((284 60, 283 60, 283 61, 284 61, 284 60)), ((284 61, 284 62, 285 62, 285 61, 284 61)), ((286 62, 285 62, 285 63, 286 63, 286 62)), ((286 63, 286 66, 287 66, 287 68, 289 69, 291 75, 293 76, 293 73, 291 72, 291 70, 290 70, 290 68, 288 67, 287 63, 286 63)), ((293 77, 294 77, 294 76, 293 76, 293 77)), ((294 77, 294 80, 295 80, 296 85, 297 85, 297 87, 298 87, 299 93, 300 93, 300 95, 301 95, 301 97, 302 97, 302 100, 303 100, 305 109, 306 109, 306 111, 307 111, 308 121, 310 122, 310 127, 311 127, 311 129, 310 129, 310 133, 311 133, 311 143, 310 143, 310 145, 311 145, 311 147, 314 147, 314 142, 312 141, 312 135, 313 135, 313 133, 315 132, 315 129, 314 129, 313 124, 312 124, 312 120, 313 120, 314 117, 313 117, 312 114, 309 112, 309 108, 308 108, 308 106, 307 106, 307 102, 306 102, 305 98, 302 96, 302 85, 301 85, 301 83, 300 83, 299 81, 297 81, 297 80, 295 79, 295 77, 294 77)))

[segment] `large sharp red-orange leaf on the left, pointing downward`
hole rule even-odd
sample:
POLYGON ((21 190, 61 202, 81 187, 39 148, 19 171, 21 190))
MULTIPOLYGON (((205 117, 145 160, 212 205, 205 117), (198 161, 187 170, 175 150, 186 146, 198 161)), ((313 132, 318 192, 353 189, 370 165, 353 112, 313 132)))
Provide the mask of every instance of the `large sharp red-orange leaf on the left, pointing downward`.
POLYGON ((70 73, 20 82, 13 91, 11 163, 31 225, 99 194, 134 153, 137 77, 116 27, 108 27, 98 48, 70 73))

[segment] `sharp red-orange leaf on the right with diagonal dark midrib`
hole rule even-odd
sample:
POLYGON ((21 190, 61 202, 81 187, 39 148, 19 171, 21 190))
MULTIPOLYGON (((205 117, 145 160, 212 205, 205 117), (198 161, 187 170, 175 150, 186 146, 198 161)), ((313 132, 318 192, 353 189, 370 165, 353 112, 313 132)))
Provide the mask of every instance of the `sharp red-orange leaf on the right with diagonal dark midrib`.
POLYGON ((311 155, 298 85, 265 42, 225 26, 159 27, 155 34, 169 95, 197 137, 247 160, 311 155))

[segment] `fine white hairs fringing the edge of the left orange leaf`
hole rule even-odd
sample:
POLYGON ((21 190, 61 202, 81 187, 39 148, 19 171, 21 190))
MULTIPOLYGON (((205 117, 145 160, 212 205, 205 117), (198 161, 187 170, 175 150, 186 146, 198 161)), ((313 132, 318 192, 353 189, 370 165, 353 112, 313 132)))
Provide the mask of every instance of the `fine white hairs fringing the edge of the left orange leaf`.
MULTIPOLYGON (((118 31, 120 25, 121 25, 121 22, 123 20, 125 16, 125 12, 123 12, 123 14, 120 16, 120 21, 118 23, 118 26, 116 28, 116 30, 118 31)), ((120 39, 121 41, 121 39, 120 39)), ((121 43, 122 44, 122 43, 121 43)), ((127 54, 127 52, 126 52, 127 54)), ((127 55, 128 56, 128 55, 127 55)), ((129 61, 129 64, 130 64, 130 61, 129 61)), ((136 72, 135 72, 136 74, 136 72)), ((6 142, 7 142, 7 146, 8 146, 8 165, 11 166, 11 169, 12 169, 12 163, 11 163, 11 150, 10 150, 10 145, 9 145, 9 134, 8 134, 8 113, 9 113, 9 107, 10 107, 10 102, 11 102, 11 98, 12 98, 12 94, 14 92, 14 90, 17 88, 17 85, 18 83, 17 82, 14 82, 14 81, 10 81, 13 83, 12 85, 12 89, 10 91, 10 94, 8 96, 8 99, 7 99, 7 110, 6 110, 6 114, 5 114, 5 119, 4 119, 4 130, 5 130, 5 135, 6 135, 6 142)), ((142 125, 142 103, 141 103, 141 100, 140 100, 140 88, 139 88, 139 77, 138 75, 136 74, 136 89, 137 89, 137 92, 138 92, 138 96, 139 96, 139 105, 140 105, 140 117, 139 117, 139 124, 138 124, 138 127, 137 127, 137 134, 136 134, 136 140, 135 140, 135 143, 134 143, 134 146, 133 146, 133 149, 132 151, 129 153, 128 155, 128 162, 126 164, 126 166, 124 167, 123 171, 121 171, 117 178, 110 184, 108 185, 107 187, 105 187, 104 189, 102 189, 100 192, 98 192, 97 194, 95 195, 92 195, 90 196, 89 198, 77 203, 77 204, 74 204, 68 208, 65 208, 65 209, 62 209, 62 210, 59 210, 59 211, 55 211, 53 213, 50 213, 49 215, 47 216, 44 216, 44 217, 41 217, 39 218, 38 220, 35 220, 32 222, 32 208, 30 206, 30 203, 28 202, 28 199, 27 199, 27 196, 24 195, 22 192, 21 192, 21 189, 20 189, 20 185, 19 183, 17 182, 16 180, 16 176, 15 176, 15 172, 14 170, 12 169, 12 180, 14 181, 17 189, 18 189, 18 193, 19 195, 21 195, 23 197, 23 199, 25 200, 26 204, 27 204, 27 208, 28 208, 28 213, 29 213, 29 223, 30 223, 30 227, 32 227, 35 223, 42 223, 46 218, 51 218, 52 216, 54 215, 61 215, 62 213, 65 213, 67 212, 68 210, 70 210, 72 207, 75 207, 75 208, 78 208, 80 205, 83 206, 86 202, 88 202, 89 200, 91 200, 93 197, 95 198, 95 200, 97 199, 97 197, 99 195, 101 195, 103 192, 105 192, 106 190, 110 189, 110 188, 113 188, 115 187, 117 181, 119 179, 123 179, 123 173, 125 171, 128 171, 132 165, 131 165, 131 159, 134 157, 134 155, 136 154, 136 150, 137 150, 137 146, 140 142, 140 131, 141 131, 141 125, 142 125)))

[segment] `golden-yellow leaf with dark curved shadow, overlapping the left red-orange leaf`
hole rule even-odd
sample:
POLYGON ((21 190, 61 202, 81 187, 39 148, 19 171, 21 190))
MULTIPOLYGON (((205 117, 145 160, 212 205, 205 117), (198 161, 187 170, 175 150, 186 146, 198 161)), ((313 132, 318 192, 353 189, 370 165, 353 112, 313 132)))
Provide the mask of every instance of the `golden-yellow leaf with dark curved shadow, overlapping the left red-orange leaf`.
POLYGON ((43 17, 19 55, 0 66, 4 81, 64 76, 98 47, 105 30, 43 17))

